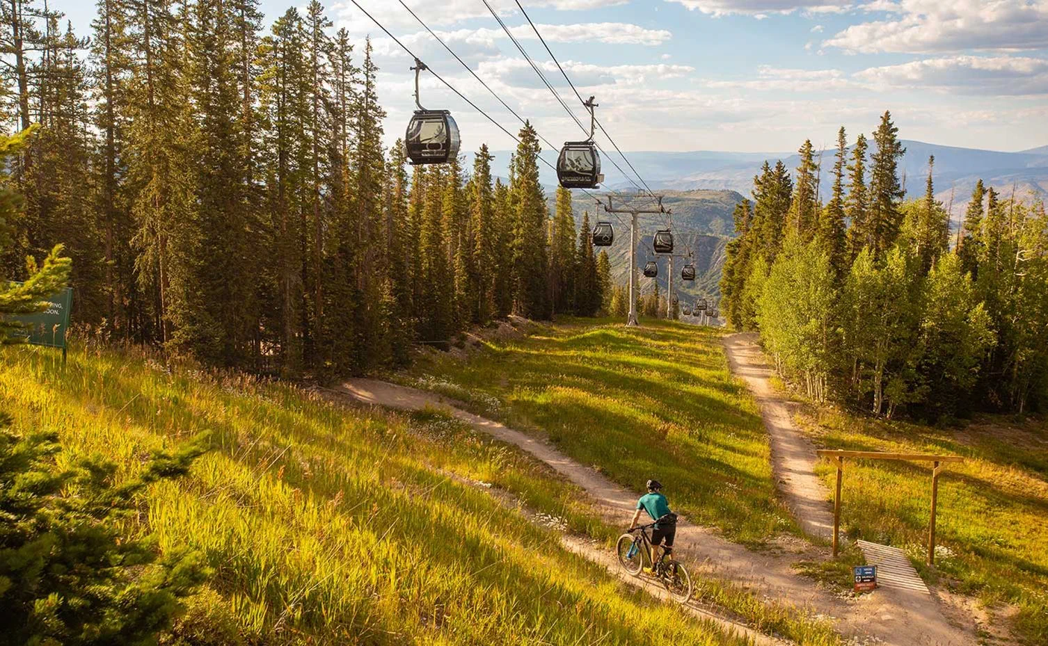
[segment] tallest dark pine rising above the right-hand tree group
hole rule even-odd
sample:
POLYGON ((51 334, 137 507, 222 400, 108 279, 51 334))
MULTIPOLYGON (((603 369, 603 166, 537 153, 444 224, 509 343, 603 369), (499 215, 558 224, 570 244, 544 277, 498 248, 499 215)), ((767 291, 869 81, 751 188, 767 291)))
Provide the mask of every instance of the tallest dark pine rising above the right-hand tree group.
POLYGON ((870 164, 870 244, 874 257, 881 259, 895 244, 902 219, 899 204, 905 192, 899 184, 899 158, 907 152, 898 139, 899 129, 886 111, 873 134, 876 150, 870 164))

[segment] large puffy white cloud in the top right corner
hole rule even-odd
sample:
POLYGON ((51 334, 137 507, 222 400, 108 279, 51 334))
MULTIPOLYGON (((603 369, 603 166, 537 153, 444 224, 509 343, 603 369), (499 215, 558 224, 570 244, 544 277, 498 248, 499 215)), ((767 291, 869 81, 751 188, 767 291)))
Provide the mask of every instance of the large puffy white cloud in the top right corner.
POLYGON ((824 46, 864 53, 1048 47, 1048 0, 878 0, 866 7, 893 16, 851 25, 824 46))

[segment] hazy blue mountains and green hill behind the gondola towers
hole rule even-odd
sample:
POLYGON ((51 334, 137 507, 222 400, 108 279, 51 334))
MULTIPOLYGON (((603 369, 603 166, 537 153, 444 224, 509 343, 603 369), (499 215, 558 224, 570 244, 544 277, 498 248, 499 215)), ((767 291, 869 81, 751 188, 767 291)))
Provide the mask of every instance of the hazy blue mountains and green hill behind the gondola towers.
MULTIPOLYGON (((971 190, 979 179, 997 188, 1004 199, 1010 199, 1013 192, 1017 199, 1028 199, 1030 196, 1048 199, 1048 146, 1006 153, 914 140, 903 140, 902 144, 907 153, 902 157, 901 175, 908 197, 916 198, 924 194, 929 156, 935 155, 933 177, 936 197, 951 208, 955 227, 959 224, 971 190)), ((822 155, 820 186, 824 199, 828 197, 832 182, 829 174, 833 165, 833 155, 832 148, 827 148, 822 155)), ((495 156, 495 163, 499 165, 509 159, 509 153, 505 151, 497 152, 495 156)), ((555 154, 546 154, 545 157, 553 161, 555 154)), ((685 292, 691 296, 718 293, 717 283, 724 262, 724 245, 728 237, 734 235, 732 210, 744 196, 749 197, 754 176, 760 171, 761 164, 765 160, 774 163, 777 159, 782 159, 791 172, 800 164, 796 153, 631 152, 627 153, 627 157, 652 190, 667 195, 664 203, 674 210, 673 230, 677 237, 678 248, 690 249, 695 254, 698 277, 694 284, 685 286, 685 292)), ((627 169, 620 158, 616 160, 619 165, 627 169)), ((607 159, 604 162, 604 171, 607 177, 606 190, 636 191, 636 187, 607 159)), ((552 207, 556 175, 552 169, 544 164, 540 165, 540 173, 543 184, 548 187, 547 195, 552 207)), ((623 243, 629 239, 629 229, 625 226, 628 224, 628 218, 619 216, 621 221, 618 221, 604 214, 603 209, 581 191, 573 192, 573 196, 578 221, 582 220, 583 211, 588 210, 591 222, 596 220, 612 222, 616 238, 615 244, 608 249, 608 252, 616 279, 625 282, 629 245, 623 243)), ((655 229, 664 228, 667 223, 668 220, 662 217, 642 216, 639 219, 640 235, 637 243, 639 265, 642 266, 648 260, 659 262, 658 283, 661 290, 665 289, 667 260, 655 259, 651 250, 651 239, 655 229)), ((677 289, 680 287, 679 267, 682 262, 677 260, 674 263, 677 289)), ((650 279, 641 277, 642 291, 649 291, 653 284, 650 279)))

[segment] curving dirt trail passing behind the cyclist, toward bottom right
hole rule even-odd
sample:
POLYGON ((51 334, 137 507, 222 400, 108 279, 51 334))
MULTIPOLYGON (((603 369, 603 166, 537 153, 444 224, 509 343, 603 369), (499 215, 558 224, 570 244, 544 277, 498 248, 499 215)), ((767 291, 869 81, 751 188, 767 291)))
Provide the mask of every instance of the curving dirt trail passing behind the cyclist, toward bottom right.
MULTIPOLYGON (((538 438, 463 410, 458 402, 374 379, 352 379, 343 383, 337 392, 364 403, 392 408, 444 409, 477 430, 531 453, 586 490, 609 522, 625 526, 633 514, 636 492, 623 489, 538 438)), ((974 646, 976 643, 964 632, 944 625, 937 608, 933 607, 933 612, 920 611, 926 608, 910 609, 879 594, 845 599, 818 587, 810 579, 798 575, 791 566, 799 560, 799 553, 808 549, 807 545, 800 550, 754 552, 724 539, 711 529, 690 525, 681 517, 676 547, 682 556, 697 565, 698 571, 742 584, 768 599, 791 603, 798 608, 834 619, 837 629, 847 638, 892 646, 974 646)), ((606 558, 602 550, 590 552, 587 556, 593 560, 606 558)))

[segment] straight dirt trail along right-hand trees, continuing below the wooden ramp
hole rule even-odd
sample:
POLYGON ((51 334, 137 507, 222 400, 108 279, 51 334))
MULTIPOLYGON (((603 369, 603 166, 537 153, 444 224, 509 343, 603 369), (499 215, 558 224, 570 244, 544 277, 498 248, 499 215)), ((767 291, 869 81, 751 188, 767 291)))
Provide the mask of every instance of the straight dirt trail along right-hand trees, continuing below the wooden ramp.
MULTIPOLYGON (((778 396, 769 379, 772 375, 764 353, 757 344, 756 334, 733 334, 724 337, 724 350, 732 372, 741 377, 761 407, 761 417, 771 443, 771 467, 787 505, 806 533, 818 538, 831 538, 833 511, 828 502, 829 491, 814 473, 815 448, 793 425, 790 402, 778 396)), ((909 563, 907 563, 909 565, 909 563)), ((952 625, 943 616, 944 605, 933 593, 923 589, 881 587, 869 598, 882 604, 872 621, 894 623, 902 619, 907 628, 916 629, 920 644, 975 643, 970 630, 952 625)), ((968 626, 973 618, 957 620, 968 626)), ((899 638, 896 636, 896 640, 899 638)), ((897 643, 897 642, 891 642, 897 643)))

